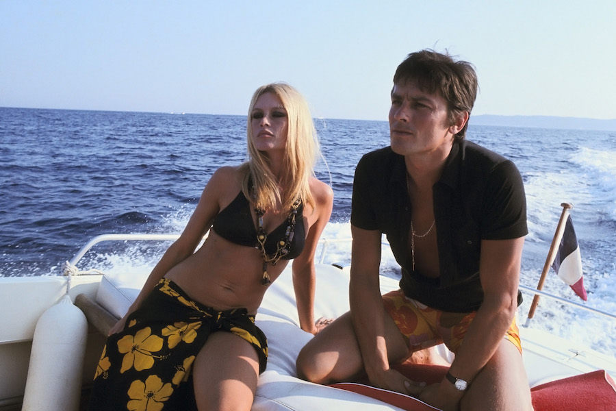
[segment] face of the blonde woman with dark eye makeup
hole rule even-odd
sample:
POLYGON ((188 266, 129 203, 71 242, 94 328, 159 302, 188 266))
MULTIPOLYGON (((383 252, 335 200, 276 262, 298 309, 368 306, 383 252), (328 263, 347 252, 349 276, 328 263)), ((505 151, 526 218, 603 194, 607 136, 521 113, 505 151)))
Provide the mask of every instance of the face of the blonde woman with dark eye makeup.
POLYGON ((265 92, 259 96, 251 112, 251 129, 257 150, 285 150, 289 119, 277 95, 265 92))

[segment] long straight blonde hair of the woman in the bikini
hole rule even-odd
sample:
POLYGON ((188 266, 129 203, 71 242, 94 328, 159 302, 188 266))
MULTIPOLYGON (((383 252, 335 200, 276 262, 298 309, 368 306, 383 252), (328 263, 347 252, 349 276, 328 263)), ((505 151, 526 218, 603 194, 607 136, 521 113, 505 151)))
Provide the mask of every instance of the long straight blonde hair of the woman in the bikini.
POLYGON ((297 199, 304 204, 315 206, 309 187, 310 177, 314 175, 314 165, 320 155, 319 142, 308 103, 292 86, 285 83, 266 84, 257 88, 248 108, 248 161, 242 164, 245 175, 242 191, 246 198, 255 195, 255 206, 261 210, 290 209, 297 199), (280 181, 272 174, 269 158, 254 145, 251 116, 257 99, 267 92, 276 95, 287 112, 288 134, 286 155, 280 181), (279 184, 285 188, 281 195, 279 184))

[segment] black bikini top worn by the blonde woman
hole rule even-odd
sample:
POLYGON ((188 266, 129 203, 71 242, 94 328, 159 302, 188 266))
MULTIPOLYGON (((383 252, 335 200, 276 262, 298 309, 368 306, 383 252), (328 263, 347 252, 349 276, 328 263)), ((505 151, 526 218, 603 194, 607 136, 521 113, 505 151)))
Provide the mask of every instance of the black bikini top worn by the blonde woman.
MULTIPOLYGON (((291 247, 289 253, 281 257, 281 260, 292 260, 299 256, 304 249, 306 230, 302 214, 303 208, 303 203, 300 203, 297 208, 295 234, 291 241, 291 247)), ((251 215, 251 203, 246 199, 241 190, 229 206, 221 210, 216 218, 214 218, 211 228, 214 229, 216 234, 235 244, 245 245, 246 247, 259 247, 257 243, 257 229, 251 215)), ((265 242, 266 253, 273 254, 276 252, 277 243, 285 238, 286 229, 287 220, 268 233, 268 238, 265 242)))

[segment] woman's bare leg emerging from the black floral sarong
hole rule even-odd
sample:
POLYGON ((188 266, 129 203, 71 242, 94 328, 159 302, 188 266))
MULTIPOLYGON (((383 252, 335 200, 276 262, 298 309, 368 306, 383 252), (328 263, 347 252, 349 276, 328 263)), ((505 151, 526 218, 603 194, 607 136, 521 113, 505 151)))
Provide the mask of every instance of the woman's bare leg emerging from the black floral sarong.
POLYGON ((253 345, 231 332, 211 334, 192 369, 198 410, 250 410, 258 376, 253 345))

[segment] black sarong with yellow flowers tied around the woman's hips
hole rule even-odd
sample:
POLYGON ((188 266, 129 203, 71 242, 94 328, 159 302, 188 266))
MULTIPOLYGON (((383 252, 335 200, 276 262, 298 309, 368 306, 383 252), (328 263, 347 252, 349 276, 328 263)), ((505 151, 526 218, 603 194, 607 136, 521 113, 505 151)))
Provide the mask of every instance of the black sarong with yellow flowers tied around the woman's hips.
POLYGON ((251 343, 259 373, 265 371, 267 339, 255 316, 245 308, 217 311, 191 301, 170 279, 161 279, 126 323, 103 347, 89 410, 196 410, 192 362, 217 331, 251 343))

